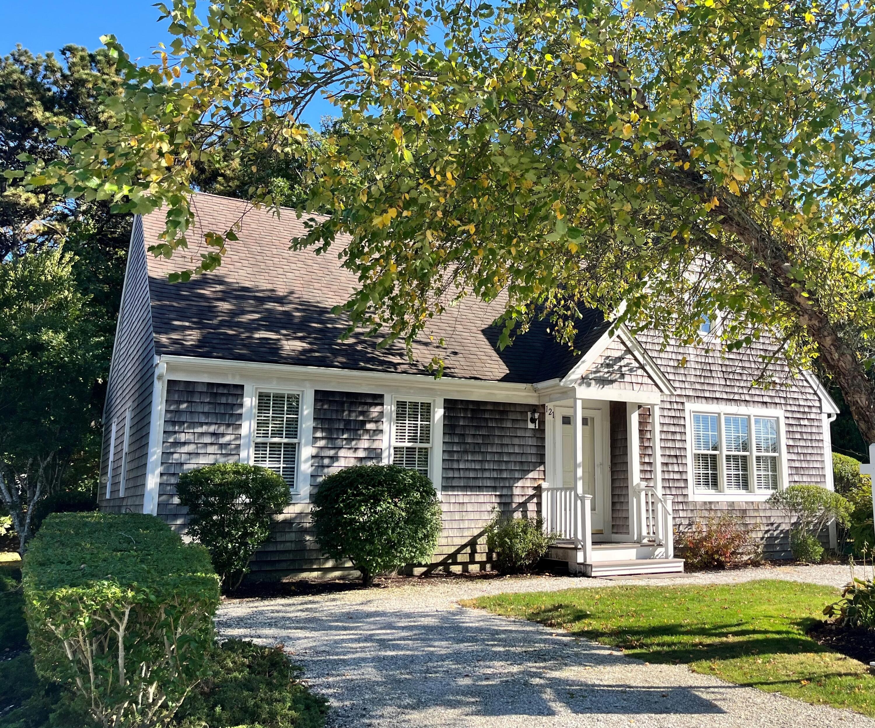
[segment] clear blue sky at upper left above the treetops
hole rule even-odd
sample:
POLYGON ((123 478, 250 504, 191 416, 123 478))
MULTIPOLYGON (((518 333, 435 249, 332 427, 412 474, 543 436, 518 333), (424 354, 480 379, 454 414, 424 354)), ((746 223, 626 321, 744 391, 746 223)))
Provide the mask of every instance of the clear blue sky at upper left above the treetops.
MULTIPOLYGON (((132 59, 149 59, 158 43, 168 43, 167 21, 158 23, 154 0, 0 0, 0 54, 20 43, 32 52, 57 51, 67 43, 100 47, 102 35, 116 35, 132 59)), ((332 107, 318 100, 304 121, 318 127, 332 107)), ((337 116, 335 113, 334 116, 337 116)))

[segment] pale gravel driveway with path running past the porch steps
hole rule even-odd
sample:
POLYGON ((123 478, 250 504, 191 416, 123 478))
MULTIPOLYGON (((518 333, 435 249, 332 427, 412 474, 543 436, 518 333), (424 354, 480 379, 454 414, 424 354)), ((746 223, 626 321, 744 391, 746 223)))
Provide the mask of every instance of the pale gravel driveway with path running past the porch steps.
MULTIPOLYGON (((737 583, 785 578, 840 586, 841 566, 749 569, 615 584, 737 583)), ((221 634, 283 642, 332 704, 332 726, 872 726, 851 711, 809 705, 650 665, 522 620, 458 606, 503 591, 604 588, 603 579, 434 578, 320 596, 222 606, 221 634)))

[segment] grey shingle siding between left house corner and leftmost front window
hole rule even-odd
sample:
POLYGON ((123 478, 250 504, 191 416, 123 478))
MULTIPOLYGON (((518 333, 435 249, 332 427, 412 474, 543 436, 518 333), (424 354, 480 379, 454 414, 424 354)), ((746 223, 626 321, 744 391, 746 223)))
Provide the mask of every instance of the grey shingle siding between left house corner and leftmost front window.
POLYGON ((240 384, 167 381, 158 516, 172 527, 186 525, 179 505, 179 473, 240 460, 243 388, 240 384))

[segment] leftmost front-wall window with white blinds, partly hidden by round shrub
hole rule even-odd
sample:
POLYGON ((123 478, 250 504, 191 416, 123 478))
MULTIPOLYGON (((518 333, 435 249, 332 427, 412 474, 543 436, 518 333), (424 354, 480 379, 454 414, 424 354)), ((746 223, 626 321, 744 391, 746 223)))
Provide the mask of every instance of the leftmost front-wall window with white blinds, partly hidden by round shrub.
POLYGON ((255 401, 252 462, 278 472, 291 490, 297 479, 300 410, 296 393, 258 392, 255 401))

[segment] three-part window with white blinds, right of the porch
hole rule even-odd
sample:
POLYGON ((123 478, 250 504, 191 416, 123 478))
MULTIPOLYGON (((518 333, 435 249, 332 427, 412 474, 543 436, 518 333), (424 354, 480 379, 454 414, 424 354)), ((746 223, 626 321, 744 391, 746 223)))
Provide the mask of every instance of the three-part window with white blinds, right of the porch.
POLYGON ((696 493, 774 493, 781 472, 778 417, 697 412, 692 428, 693 489, 696 493))

